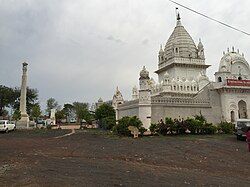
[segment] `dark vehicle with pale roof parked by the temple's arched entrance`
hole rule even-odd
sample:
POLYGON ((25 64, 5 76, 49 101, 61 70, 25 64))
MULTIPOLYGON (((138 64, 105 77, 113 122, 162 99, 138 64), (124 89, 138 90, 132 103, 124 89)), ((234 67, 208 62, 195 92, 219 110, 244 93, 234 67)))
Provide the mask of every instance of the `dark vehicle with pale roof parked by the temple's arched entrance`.
POLYGON ((248 127, 250 127, 250 119, 238 119, 235 123, 235 135, 237 140, 246 139, 246 132, 248 127))

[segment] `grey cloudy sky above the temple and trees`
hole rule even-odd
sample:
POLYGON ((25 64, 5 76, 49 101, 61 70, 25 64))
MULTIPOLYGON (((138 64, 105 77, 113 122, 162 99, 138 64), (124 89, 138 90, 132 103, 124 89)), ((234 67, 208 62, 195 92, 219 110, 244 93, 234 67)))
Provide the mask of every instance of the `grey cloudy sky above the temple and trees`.
MULTIPOLYGON (((250 32, 249 0, 176 0, 250 32)), ((157 69, 160 44, 176 24, 168 0, 0 0, 0 84, 20 86, 21 63, 29 63, 28 85, 42 106, 112 98, 118 85, 125 99, 145 65, 157 69)), ((227 47, 250 59, 250 37, 179 7, 182 24, 205 47, 211 80, 227 47)))

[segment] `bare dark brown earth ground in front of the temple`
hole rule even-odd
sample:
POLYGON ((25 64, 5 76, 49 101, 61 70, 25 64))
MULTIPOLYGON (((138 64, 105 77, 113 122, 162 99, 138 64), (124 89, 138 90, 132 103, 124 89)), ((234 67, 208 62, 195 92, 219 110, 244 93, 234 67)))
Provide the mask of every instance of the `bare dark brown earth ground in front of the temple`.
POLYGON ((0 134, 0 186, 250 186, 233 135, 119 138, 99 130, 0 134))

